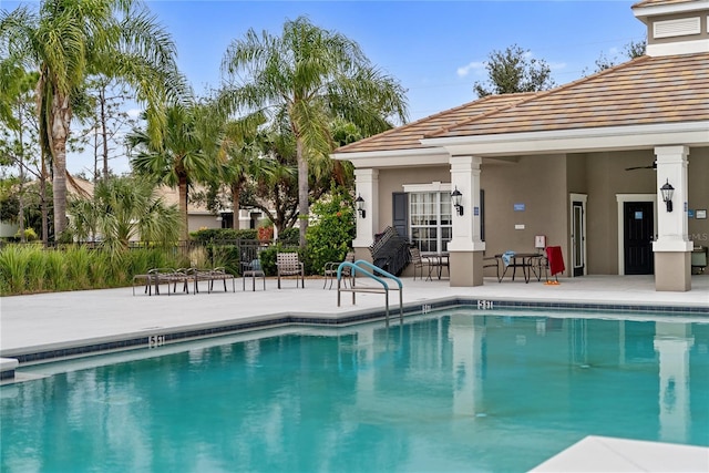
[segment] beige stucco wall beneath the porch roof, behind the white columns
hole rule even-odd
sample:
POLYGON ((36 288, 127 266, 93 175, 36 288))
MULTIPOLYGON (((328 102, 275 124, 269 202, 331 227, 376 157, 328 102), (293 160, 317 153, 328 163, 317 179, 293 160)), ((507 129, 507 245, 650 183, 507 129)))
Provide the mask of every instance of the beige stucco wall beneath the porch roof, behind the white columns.
MULTIPOLYGON (((485 194, 486 255, 512 249, 533 251, 534 236, 546 235, 547 245, 559 245, 569 274, 569 193, 587 195, 586 267, 589 275, 618 273, 617 194, 657 194, 657 174, 651 168, 653 150, 576 153, 568 156, 522 156, 511 161, 483 160, 481 186, 485 194), (523 204, 524 210, 515 210, 523 204), (524 229, 515 229, 524 225, 524 229)), ((709 148, 689 154, 689 199, 692 210, 709 209, 709 148)), ((450 168, 381 169, 379 174, 379 230, 392 220, 391 194, 404 184, 450 183, 450 168)), ((689 238, 709 246, 709 219, 689 219, 689 238)), ((492 276, 492 273, 486 274, 492 276)))

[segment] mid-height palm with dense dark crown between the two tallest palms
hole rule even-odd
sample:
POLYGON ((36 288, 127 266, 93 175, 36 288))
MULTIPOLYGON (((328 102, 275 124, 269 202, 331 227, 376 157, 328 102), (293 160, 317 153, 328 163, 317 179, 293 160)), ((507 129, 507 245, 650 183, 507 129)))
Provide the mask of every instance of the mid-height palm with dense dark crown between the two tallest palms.
POLYGON ((177 187, 184 241, 189 239, 188 187, 210 175, 220 135, 222 122, 209 105, 173 104, 166 111, 161 141, 153 140, 147 130, 134 130, 126 136, 129 146, 136 151, 131 157, 133 171, 155 183, 177 187))

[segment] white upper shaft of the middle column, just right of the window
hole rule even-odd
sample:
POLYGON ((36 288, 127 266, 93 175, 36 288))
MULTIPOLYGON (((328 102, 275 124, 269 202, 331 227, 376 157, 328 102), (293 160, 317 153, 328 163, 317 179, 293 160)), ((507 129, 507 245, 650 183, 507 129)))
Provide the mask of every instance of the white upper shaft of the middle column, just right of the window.
POLYGON ((482 157, 451 156, 451 187, 462 194, 463 215, 453 208, 453 238, 450 251, 483 251, 480 235, 480 164, 482 157))

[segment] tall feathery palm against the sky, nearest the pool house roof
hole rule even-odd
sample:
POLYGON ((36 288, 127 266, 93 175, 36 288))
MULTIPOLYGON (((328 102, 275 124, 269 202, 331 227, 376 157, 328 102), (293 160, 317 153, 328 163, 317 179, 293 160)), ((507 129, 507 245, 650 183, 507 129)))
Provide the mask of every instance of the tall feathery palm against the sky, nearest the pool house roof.
POLYGON ((366 133, 391 127, 387 117, 405 121, 402 86, 373 68, 359 45, 322 30, 307 18, 286 21, 280 37, 253 29, 234 41, 222 63, 228 83, 223 101, 234 111, 259 112, 286 121, 296 140, 300 246, 309 214, 309 161, 333 150, 330 124, 341 116, 366 133), (239 81, 240 78, 246 78, 239 81))

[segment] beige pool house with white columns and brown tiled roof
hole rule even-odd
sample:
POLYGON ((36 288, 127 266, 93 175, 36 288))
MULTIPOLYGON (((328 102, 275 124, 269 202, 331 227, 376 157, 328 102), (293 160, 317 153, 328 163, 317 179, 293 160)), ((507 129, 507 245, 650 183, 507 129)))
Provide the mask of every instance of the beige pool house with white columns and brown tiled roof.
POLYGON ((641 58, 337 150, 367 208, 358 257, 393 226, 450 254, 452 286, 477 286, 492 276, 485 256, 544 237, 568 277, 653 274, 657 290, 690 290, 691 253, 709 245, 709 0, 645 0, 633 13, 648 28, 641 58))

